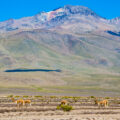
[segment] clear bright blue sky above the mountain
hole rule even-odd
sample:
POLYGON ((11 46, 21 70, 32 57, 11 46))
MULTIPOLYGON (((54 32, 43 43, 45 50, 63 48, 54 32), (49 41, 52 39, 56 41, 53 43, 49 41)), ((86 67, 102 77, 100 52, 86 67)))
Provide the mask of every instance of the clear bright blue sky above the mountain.
POLYGON ((33 16, 64 5, 87 6, 108 19, 120 16, 120 0, 0 0, 0 21, 33 16))

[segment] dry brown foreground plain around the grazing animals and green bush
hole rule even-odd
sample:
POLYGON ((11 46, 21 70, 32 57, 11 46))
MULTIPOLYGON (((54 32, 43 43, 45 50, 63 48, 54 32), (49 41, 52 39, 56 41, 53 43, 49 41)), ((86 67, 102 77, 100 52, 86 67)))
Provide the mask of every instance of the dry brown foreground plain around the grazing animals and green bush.
POLYGON ((0 97, 0 120, 120 120, 120 98, 117 97, 97 98, 109 101, 106 108, 95 105, 94 96, 14 96, 16 100, 30 99, 32 105, 27 108, 17 108, 10 97, 0 97), (73 110, 57 110, 63 99, 69 101, 73 110))

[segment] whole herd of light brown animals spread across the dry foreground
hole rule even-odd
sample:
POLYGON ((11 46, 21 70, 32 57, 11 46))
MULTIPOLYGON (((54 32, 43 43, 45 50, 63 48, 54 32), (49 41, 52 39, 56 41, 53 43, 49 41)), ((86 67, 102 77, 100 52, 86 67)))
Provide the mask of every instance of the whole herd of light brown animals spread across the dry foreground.
MULTIPOLYGON (((15 100, 14 98, 11 98, 11 100, 16 103, 17 107, 23 107, 23 106, 31 106, 31 100, 23 100, 23 99, 18 99, 15 100)), ((108 100, 102 100, 98 101, 97 99, 94 100, 94 103, 98 105, 98 107, 108 107, 108 100)), ((67 100, 61 100, 59 105, 69 105, 69 102, 67 100)))

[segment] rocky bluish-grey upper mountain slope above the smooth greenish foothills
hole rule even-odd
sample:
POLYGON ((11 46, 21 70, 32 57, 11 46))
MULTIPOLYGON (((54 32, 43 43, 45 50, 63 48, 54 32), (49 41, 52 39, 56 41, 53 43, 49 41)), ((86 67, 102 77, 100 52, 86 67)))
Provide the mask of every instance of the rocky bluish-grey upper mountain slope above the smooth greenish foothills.
POLYGON ((25 17, 18 20, 9 19, 0 22, 0 31, 13 31, 18 29, 50 29, 65 25, 73 25, 81 23, 79 27, 88 28, 88 30, 96 29, 115 29, 115 25, 119 24, 119 18, 106 20, 95 12, 84 6, 71 6, 55 9, 50 12, 40 12, 32 17, 25 17))

